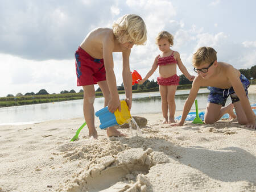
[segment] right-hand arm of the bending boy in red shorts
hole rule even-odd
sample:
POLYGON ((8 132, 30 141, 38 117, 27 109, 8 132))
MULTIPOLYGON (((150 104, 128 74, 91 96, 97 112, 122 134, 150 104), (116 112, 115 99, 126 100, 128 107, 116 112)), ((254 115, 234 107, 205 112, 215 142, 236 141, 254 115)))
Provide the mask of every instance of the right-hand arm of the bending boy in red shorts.
POLYGON ((129 110, 131 110, 131 98, 132 98, 132 78, 131 78, 131 70, 130 70, 130 57, 131 49, 128 49, 125 52, 122 52, 123 56, 123 86, 125 87, 125 95, 126 95, 126 103, 128 105, 129 110))

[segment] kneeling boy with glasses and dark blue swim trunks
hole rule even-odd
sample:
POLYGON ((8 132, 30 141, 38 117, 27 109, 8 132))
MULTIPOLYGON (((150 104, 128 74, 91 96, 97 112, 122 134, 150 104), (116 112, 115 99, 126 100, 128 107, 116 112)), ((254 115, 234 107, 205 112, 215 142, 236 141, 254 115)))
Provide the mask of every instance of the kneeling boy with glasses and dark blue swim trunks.
POLYGON ((172 126, 183 126, 200 87, 208 86, 210 93, 204 116, 206 124, 213 124, 222 115, 228 113, 230 118, 237 117, 238 123, 255 129, 255 115, 247 97, 249 80, 232 65, 217 61, 216 53, 211 47, 201 47, 193 54, 194 71, 198 75, 193 81, 180 122, 172 124, 172 126), (232 103, 225 107, 229 95, 232 103), (233 107, 237 115, 234 114, 233 107))

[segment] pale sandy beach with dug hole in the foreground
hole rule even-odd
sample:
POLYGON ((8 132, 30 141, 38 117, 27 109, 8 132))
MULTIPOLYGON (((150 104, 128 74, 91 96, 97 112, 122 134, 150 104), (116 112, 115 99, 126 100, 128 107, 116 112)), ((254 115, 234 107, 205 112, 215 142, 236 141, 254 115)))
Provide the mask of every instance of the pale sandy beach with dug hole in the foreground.
MULTIPOLYGON (((251 86, 249 93, 256 93, 251 86)), ((180 115, 177 111, 176 115, 180 115)), ((82 118, 0 126, 0 191, 255 191, 256 131, 236 120, 162 124, 141 114, 143 136, 98 140, 82 118)))

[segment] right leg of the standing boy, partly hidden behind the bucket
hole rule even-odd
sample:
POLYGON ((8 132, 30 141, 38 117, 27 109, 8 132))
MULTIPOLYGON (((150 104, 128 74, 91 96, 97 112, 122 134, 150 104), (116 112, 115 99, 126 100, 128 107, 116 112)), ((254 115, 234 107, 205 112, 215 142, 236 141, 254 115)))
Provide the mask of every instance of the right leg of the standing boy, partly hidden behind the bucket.
MULTIPOLYGON (((102 94, 104 96, 104 107, 106 107, 110 101, 110 91, 109 91, 109 87, 106 81, 99 81, 97 82, 97 84, 100 86, 102 94)), ((125 134, 121 133, 120 131, 117 131, 116 128, 114 127, 109 127, 107 128, 107 135, 109 137, 112 136, 126 136, 125 134)))

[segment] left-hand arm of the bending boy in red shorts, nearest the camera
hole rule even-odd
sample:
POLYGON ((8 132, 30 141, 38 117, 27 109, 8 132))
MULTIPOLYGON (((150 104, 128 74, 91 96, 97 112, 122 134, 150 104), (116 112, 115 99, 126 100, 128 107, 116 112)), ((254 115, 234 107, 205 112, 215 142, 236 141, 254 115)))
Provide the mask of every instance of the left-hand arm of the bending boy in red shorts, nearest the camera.
POLYGON ((108 110, 110 112, 114 112, 117 110, 121 110, 121 104, 119 101, 119 95, 117 91, 117 81, 115 79, 114 74, 114 61, 113 61, 113 49, 114 49, 114 40, 110 34, 107 34, 105 38, 102 40, 102 52, 104 59, 104 66, 106 70, 106 81, 109 86, 109 91, 111 95, 111 99, 108 103, 108 110))

